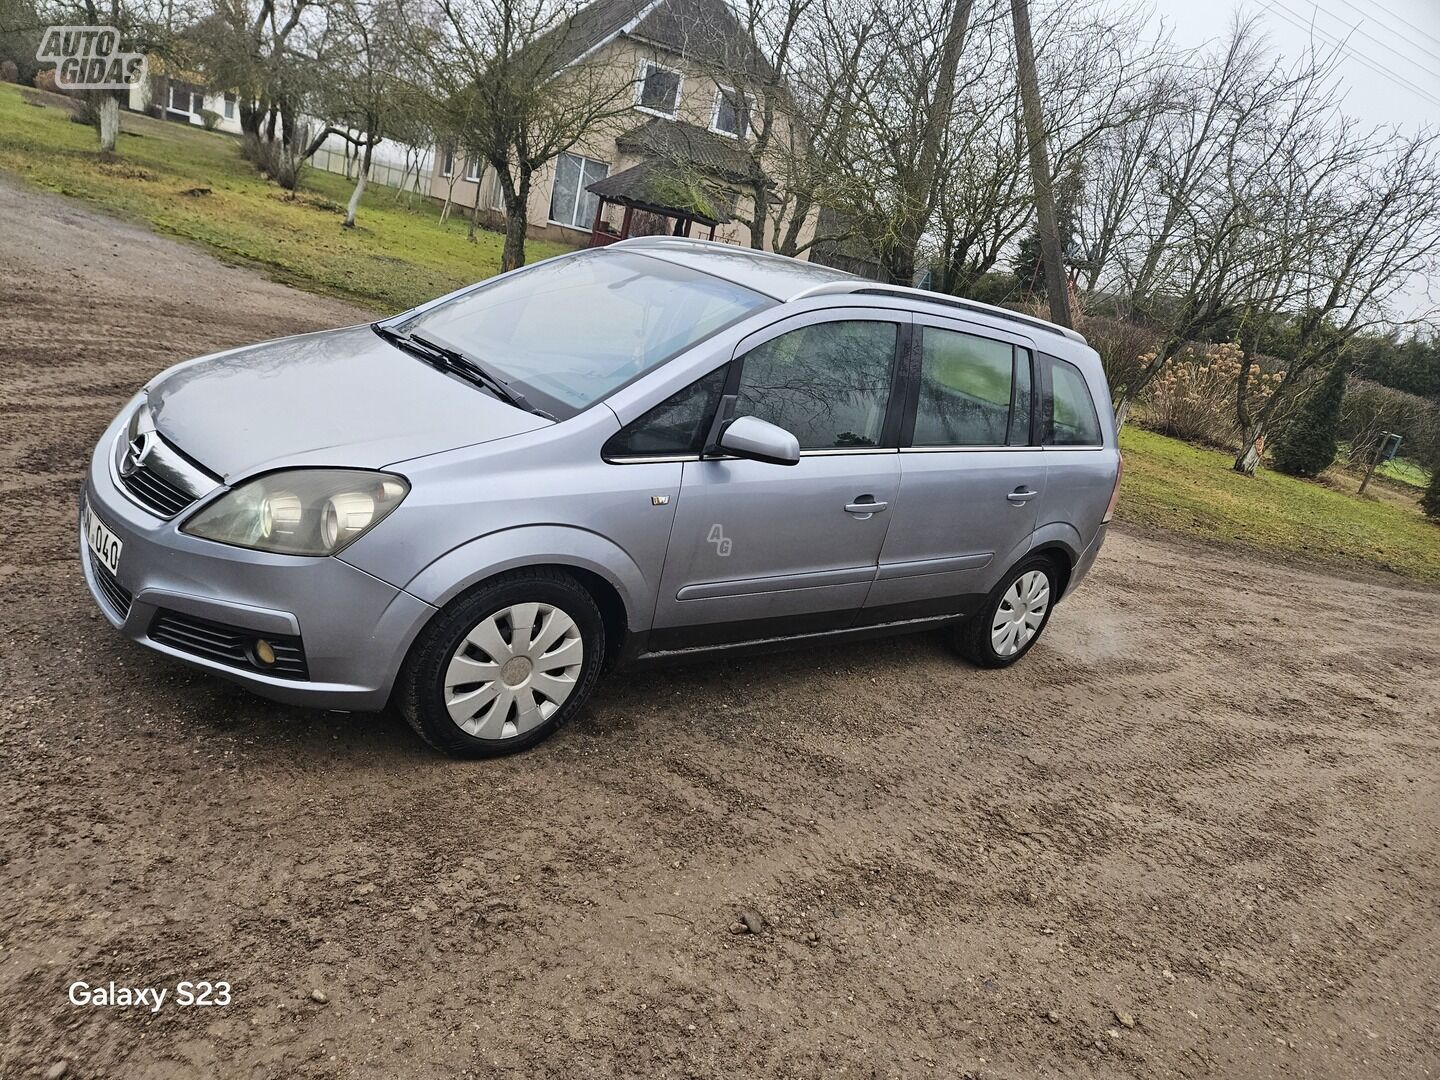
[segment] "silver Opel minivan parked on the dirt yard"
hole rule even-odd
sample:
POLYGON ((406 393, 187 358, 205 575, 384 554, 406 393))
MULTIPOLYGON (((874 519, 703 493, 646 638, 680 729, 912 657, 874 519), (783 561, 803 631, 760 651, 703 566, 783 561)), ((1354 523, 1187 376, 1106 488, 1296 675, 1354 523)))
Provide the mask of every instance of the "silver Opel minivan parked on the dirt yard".
POLYGON ((1119 477, 1074 331, 647 238, 171 367, 79 546, 127 636, 484 756, 634 660, 949 625, 1012 664, 1119 477))

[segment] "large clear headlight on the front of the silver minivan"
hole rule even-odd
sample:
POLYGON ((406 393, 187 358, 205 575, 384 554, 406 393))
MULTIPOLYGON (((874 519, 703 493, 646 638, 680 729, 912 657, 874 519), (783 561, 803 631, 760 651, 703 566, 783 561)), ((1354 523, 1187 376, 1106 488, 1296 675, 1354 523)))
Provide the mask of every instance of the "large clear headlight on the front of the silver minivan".
POLYGON ((291 469, 226 492, 180 531, 279 554, 334 554, 400 505, 402 477, 363 469, 291 469))

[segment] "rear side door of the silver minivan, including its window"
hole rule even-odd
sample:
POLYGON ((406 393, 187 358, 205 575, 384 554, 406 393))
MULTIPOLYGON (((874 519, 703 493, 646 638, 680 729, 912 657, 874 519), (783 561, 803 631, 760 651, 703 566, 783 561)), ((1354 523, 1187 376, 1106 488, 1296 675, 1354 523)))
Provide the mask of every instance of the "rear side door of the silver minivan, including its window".
POLYGON ((969 611, 1028 550, 1047 481, 1034 356, 1022 336, 916 315, 900 497, 865 622, 969 611))

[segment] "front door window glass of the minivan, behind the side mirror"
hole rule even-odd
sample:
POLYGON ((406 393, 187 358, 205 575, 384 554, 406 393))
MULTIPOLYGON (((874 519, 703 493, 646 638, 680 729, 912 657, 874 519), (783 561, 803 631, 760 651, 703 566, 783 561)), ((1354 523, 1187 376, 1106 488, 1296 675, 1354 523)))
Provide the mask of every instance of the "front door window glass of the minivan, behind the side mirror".
POLYGON ((795 435, 801 449, 877 446, 890 402, 894 323, 816 323, 744 356, 737 416, 795 435))

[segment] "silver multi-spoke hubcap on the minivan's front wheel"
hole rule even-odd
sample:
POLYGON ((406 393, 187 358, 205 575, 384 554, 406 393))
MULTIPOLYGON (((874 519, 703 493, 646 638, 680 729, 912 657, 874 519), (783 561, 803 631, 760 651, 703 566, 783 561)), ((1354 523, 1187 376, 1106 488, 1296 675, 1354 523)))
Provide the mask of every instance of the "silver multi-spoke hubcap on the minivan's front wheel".
POLYGON ((514 739, 575 693, 585 642, 549 603, 516 603, 480 621, 445 670, 445 708, 477 739, 514 739))

